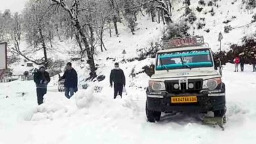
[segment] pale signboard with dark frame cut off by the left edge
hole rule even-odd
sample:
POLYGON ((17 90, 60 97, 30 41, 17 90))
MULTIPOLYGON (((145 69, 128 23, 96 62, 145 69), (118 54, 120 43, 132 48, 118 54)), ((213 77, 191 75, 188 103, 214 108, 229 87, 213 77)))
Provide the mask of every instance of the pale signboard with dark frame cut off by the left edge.
POLYGON ((7 69, 7 43, 0 42, 0 69, 7 69))

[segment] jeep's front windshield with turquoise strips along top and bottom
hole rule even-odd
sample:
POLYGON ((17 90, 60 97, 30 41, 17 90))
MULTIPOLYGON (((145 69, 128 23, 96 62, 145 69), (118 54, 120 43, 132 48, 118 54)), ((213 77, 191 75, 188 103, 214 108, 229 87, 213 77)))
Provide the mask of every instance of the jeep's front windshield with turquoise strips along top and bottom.
POLYGON ((184 50, 158 54, 156 70, 212 67, 209 49, 184 50))

